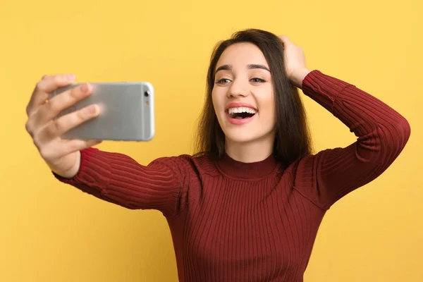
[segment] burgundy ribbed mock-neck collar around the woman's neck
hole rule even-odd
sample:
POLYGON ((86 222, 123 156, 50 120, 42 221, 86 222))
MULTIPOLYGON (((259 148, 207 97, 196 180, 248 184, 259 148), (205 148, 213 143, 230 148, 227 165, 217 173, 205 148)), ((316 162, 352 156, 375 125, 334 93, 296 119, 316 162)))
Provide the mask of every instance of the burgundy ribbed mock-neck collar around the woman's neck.
POLYGON ((252 163, 244 163, 242 161, 235 161, 226 154, 217 161, 217 166, 221 173, 230 178, 240 179, 259 179, 269 176, 276 169, 277 163, 274 154, 262 161, 255 161, 252 163))

